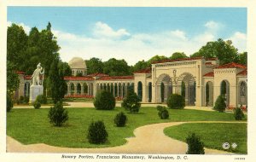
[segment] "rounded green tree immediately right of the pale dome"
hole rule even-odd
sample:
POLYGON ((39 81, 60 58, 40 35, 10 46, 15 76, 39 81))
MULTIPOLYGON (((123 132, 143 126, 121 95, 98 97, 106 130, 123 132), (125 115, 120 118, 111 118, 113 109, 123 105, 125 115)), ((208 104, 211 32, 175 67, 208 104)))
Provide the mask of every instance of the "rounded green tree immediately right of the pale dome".
POLYGON ((87 66, 87 72, 88 74, 96 73, 96 72, 103 72, 103 62, 102 60, 93 57, 89 61, 85 61, 85 64, 87 66))

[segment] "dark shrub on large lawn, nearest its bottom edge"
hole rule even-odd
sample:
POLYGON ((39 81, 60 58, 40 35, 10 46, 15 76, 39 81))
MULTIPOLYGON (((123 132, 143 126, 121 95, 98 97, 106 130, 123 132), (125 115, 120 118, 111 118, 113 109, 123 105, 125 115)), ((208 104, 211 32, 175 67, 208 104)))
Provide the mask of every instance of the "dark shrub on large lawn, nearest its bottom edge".
POLYGON ((108 140, 108 132, 102 121, 90 123, 87 139, 90 143, 94 144, 104 143, 108 140))

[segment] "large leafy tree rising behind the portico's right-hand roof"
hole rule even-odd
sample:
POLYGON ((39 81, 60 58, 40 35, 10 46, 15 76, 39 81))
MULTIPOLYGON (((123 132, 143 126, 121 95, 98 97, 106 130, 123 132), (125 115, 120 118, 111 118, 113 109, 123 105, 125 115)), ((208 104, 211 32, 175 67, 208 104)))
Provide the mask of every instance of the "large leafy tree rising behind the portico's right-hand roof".
POLYGON ((218 41, 208 42, 207 45, 201 47, 198 52, 191 57, 204 56, 205 58, 217 57, 220 65, 238 62, 237 49, 232 45, 232 41, 224 41, 219 38, 218 41))

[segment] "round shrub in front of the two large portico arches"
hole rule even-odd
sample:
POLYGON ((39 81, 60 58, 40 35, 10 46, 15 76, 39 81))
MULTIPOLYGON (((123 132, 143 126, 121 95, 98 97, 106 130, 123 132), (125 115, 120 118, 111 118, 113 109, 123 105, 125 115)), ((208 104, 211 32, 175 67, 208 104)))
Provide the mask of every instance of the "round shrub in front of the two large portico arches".
POLYGON ((185 107, 185 98, 182 95, 172 94, 167 99, 167 106, 174 109, 183 109, 185 107))

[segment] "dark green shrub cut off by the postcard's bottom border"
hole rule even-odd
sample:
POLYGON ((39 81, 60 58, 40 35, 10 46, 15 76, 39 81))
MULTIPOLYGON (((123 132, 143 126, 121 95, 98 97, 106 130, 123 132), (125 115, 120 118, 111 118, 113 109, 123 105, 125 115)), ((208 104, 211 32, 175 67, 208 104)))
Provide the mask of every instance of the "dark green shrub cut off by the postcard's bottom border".
POLYGON ((186 142, 188 144, 187 154, 205 154, 204 143, 201 142, 199 136, 195 136, 195 133, 189 135, 186 142))

